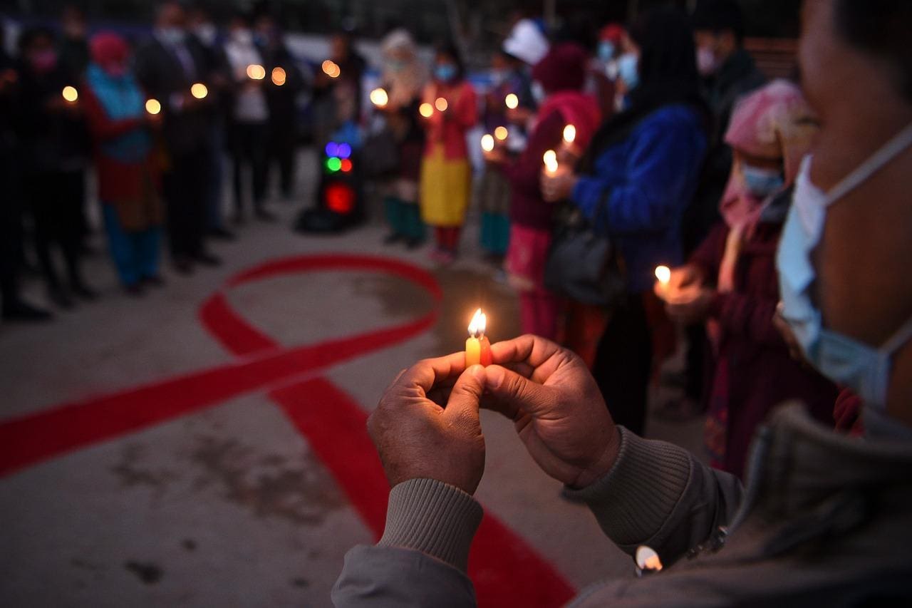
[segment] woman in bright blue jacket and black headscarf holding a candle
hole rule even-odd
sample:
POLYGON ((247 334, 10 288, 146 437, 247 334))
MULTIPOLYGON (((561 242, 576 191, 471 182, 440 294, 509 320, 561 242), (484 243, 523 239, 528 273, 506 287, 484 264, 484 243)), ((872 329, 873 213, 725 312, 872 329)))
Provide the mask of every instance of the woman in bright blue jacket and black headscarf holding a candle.
POLYGON ((653 360, 670 354, 674 341, 652 293, 653 272, 683 258, 681 215, 697 185, 710 118, 687 16, 649 12, 630 36, 639 58, 629 108, 602 125, 575 170, 543 173, 542 192, 546 201, 575 204, 623 259, 627 293, 611 310, 593 373, 612 413, 639 433, 653 360))

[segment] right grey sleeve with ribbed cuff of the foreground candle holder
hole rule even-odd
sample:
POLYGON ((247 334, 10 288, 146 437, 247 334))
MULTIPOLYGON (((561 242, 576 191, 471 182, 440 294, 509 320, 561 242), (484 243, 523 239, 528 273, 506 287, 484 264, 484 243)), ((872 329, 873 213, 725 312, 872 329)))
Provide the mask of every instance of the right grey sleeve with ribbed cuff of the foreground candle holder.
POLYGON ((682 447, 619 429, 621 447, 611 470, 566 494, 586 502, 621 550, 632 555, 648 545, 669 565, 731 520, 741 503, 741 481, 682 447))

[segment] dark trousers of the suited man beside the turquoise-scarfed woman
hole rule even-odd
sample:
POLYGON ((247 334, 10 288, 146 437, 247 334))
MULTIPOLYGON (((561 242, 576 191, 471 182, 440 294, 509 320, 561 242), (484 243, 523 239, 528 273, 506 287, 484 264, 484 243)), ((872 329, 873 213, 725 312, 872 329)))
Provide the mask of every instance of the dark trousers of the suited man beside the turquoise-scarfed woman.
POLYGON ((172 156, 162 180, 168 210, 171 257, 198 257, 204 250, 210 156, 208 149, 172 156))

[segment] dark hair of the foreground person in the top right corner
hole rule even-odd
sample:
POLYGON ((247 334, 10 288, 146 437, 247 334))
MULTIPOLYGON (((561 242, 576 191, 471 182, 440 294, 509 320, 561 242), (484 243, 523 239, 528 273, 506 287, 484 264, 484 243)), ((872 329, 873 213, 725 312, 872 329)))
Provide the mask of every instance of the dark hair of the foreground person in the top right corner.
POLYGON ((858 50, 886 59, 896 72, 896 87, 912 101, 912 2, 836 0, 836 33, 858 50))

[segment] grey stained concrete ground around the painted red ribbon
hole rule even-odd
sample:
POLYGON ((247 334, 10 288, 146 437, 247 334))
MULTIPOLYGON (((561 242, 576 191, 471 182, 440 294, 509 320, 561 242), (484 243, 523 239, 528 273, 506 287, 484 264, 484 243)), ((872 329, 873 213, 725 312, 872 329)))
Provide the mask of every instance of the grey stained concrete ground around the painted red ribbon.
MULTIPOLYGON (((302 167, 313 162, 304 154, 302 167)), ((312 175, 300 178, 302 200, 312 175)), ((332 367, 326 376, 365 410, 399 369, 462 348, 481 301, 492 340, 519 332, 509 288, 472 246, 449 268, 428 250, 381 246, 375 217, 342 236, 289 229, 300 204, 275 202, 276 224, 249 224, 214 244, 222 267, 191 277, 165 267, 165 288, 131 299, 105 255, 88 259, 98 302, 40 326, 0 325, 0 422, 87 395, 233 361, 198 309, 225 278, 264 260, 316 252, 382 254, 428 267, 444 292, 440 318, 409 341, 332 367)), ((375 216, 378 214, 375 214, 375 216)), ((102 243, 98 238, 98 245, 102 243)), ((36 284, 28 288, 41 299, 36 284)), ((272 278, 230 292, 234 309, 285 346, 420 316, 430 300, 399 279, 362 272, 272 278)), ((658 397, 657 397, 658 399, 658 397)), ((632 565, 586 508, 559 497, 512 425, 483 413, 487 467, 477 497, 577 589, 632 565)), ((649 435, 699 445, 700 421, 651 420, 649 435)), ((3 446, 0 446, 0 450, 3 446)), ((0 478, 0 605, 328 605, 345 552, 372 534, 306 440, 263 392, 89 446, 0 478)))

